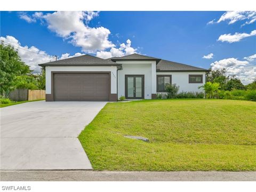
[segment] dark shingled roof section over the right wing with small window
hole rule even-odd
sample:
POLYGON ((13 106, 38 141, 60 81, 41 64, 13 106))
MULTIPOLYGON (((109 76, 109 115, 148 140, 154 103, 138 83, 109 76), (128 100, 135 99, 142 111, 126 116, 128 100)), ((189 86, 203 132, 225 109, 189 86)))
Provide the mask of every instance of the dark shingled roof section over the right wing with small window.
POLYGON ((157 71, 208 71, 207 69, 193 67, 178 62, 161 60, 156 66, 157 71))

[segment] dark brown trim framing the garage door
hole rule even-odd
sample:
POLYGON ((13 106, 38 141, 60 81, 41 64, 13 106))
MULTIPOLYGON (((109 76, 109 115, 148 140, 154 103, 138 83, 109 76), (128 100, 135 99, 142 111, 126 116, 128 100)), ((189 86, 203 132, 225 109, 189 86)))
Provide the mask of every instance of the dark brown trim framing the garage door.
MULTIPOLYGON (((54 95, 54 74, 109 74, 109 95, 108 100, 112 99, 111 95, 111 71, 51 71, 51 95, 52 95, 52 101, 55 101, 55 95, 54 95)), ((115 94, 115 93, 114 93, 115 94)))

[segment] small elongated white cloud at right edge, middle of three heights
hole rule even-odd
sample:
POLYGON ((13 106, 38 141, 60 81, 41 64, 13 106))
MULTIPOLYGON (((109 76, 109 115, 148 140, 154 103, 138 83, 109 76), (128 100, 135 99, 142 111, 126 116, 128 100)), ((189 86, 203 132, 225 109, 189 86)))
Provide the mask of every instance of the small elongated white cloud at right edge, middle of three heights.
POLYGON ((231 34, 223 34, 218 38, 218 41, 221 42, 228 42, 228 43, 234 43, 239 42, 243 38, 250 37, 256 35, 256 30, 251 31, 250 34, 247 33, 235 33, 234 35, 231 34))

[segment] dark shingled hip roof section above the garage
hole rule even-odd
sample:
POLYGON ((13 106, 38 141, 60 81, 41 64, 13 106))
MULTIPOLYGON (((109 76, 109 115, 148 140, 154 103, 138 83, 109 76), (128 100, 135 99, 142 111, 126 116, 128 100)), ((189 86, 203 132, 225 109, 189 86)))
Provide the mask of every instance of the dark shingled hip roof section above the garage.
POLYGON ((101 59, 98 57, 94 57, 89 54, 39 64, 39 66, 92 66, 92 65, 93 66, 105 66, 105 65, 106 66, 120 66, 121 64, 118 64, 113 61, 101 59))

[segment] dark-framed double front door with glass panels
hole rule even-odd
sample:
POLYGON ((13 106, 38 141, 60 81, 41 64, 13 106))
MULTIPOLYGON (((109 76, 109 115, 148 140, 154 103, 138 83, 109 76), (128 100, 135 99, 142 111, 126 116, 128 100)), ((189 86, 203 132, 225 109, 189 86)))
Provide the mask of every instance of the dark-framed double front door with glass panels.
POLYGON ((125 98, 144 99, 144 75, 125 75, 125 98))

